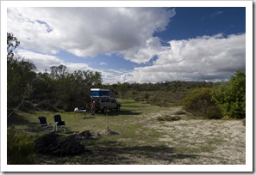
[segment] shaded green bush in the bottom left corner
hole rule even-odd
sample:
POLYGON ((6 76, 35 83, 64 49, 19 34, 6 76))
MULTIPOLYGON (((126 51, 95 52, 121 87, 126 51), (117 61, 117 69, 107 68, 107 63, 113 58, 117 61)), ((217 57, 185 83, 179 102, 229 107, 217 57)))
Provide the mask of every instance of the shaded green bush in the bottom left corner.
POLYGON ((28 133, 9 128, 7 132, 7 164, 34 164, 34 139, 28 133))

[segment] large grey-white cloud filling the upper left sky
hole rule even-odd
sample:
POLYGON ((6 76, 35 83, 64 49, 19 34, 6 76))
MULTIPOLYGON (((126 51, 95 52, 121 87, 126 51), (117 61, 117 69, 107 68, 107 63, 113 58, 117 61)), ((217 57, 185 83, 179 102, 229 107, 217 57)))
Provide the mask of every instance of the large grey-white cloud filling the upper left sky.
POLYGON ((78 57, 122 54, 146 63, 159 50, 155 31, 163 31, 175 10, 164 8, 9 8, 8 29, 22 47, 78 57))

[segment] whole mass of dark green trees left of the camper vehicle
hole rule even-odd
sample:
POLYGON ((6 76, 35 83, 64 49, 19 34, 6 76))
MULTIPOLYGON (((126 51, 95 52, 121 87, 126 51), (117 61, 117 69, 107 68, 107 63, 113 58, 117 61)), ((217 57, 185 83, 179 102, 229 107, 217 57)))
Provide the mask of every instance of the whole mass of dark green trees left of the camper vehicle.
POLYGON ((12 33, 7 33, 7 106, 9 116, 22 106, 25 100, 42 110, 59 108, 71 111, 75 107, 86 107, 90 88, 100 87, 100 72, 77 70, 66 71, 65 65, 52 66, 51 73, 35 73, 34 63, 23 57, 14 57, 13 51, 20 42, 12 33))

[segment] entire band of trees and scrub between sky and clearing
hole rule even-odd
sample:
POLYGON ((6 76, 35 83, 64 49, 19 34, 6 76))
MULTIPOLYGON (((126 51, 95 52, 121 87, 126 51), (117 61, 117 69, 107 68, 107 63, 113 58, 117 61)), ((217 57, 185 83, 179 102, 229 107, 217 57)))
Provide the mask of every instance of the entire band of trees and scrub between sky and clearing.
POLYGON ((65 65, 37 72, 34 63, 14 56, 20 42, 7 33, 7 111, 17 109, 72 111, 87 108, 90 89, 109 88, 111 96, 146 101, 157 106, 184 106, 184 110, 206 118, 246 118, 246 75, 237 71, 230 81, 165 81, 103 85, 100 72, 76 70, 65 65))

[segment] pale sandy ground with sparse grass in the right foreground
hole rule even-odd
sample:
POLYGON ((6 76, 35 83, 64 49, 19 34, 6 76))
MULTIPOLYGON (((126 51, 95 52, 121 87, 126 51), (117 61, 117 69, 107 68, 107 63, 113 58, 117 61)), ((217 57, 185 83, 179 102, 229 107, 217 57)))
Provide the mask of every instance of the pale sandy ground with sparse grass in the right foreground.
MULTIPOLYGON (((178 110, 180 108, 152 114, 150 118, 172 115, 178 110)), ((246 164, 246 127, 240 120, 189 119, 186 115, 180 117, 178 121, 147 124, 147 127, 163 133, 159 142, 175 149, 174 153, 159 155, 166 157, 165 160, 153 160, 151 164, 246 164)))

